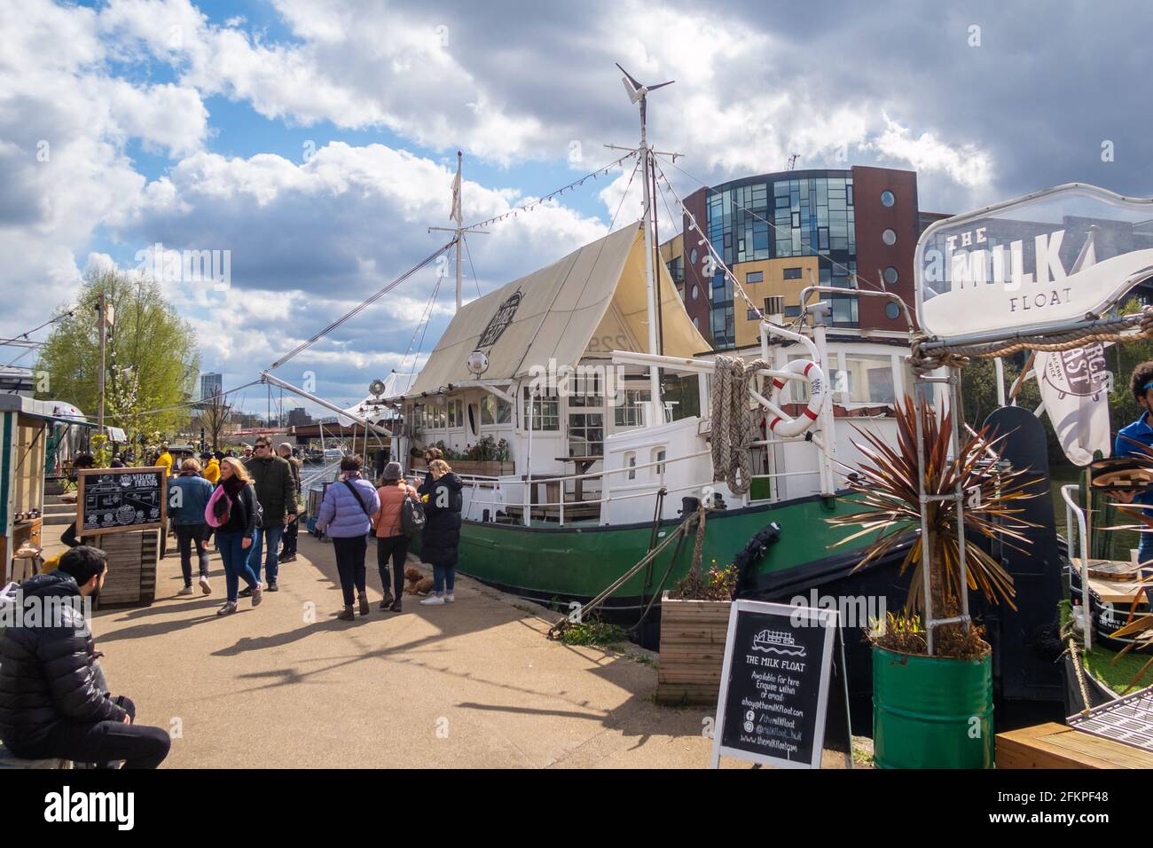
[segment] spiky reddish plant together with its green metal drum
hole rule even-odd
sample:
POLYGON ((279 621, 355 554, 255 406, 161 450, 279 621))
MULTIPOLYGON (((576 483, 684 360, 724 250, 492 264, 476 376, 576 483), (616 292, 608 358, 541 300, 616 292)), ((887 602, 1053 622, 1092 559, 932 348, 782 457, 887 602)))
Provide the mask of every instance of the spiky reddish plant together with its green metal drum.
POLYGON ((917 414, 921 415, 925 438, 925 493, 951 495, 959 481, 966 495, 964 545, 970 590, 992 603, 1012 606, 1012 577, 978 547, 977 539, 998 539, 1022 549, 1028 543, 1022 531, 1034 526, 1017 518, 1016 506, 1035 497, 1038 481, 1025 479, 1025 472, 997 470, 1002 437, 989 438, 982 429, 959 440, 959 456, 952 458, 948 412, 939 420, 927 406, 918 411, 909 397, 896 408, 896 446, 858 429, 865 443, 854 442, 854 446, 865 459, 853 470, 857 473, 849 488, 857 493, 854 503, 861 509, 827 519, 857 528, 837 543, 874 535, 857 564, 861 569, 912 541, 900 564, 902 575, 912 571, 905 608, 877 622, 880 626, 869 635, 875 763, 881 768, 989 768, 994 750, 993 671, 982 629, 975 623, 937 626, 933 654, 928 653, 926 609, 933 610, 935 620, 960 614, 960 546, 952 500, 927 505, 928 539, 919 539, 917 414), (924 598, 926 568, 929 599, 924 598))

